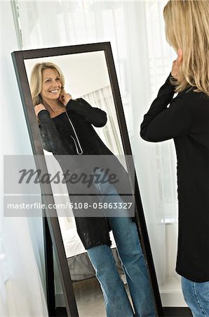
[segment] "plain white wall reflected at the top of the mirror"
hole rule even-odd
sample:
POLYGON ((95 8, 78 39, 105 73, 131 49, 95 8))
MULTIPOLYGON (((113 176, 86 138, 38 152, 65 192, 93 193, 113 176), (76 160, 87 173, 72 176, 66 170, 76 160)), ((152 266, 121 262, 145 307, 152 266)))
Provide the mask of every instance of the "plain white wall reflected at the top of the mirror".
POLYGON ((27 76, 35 63, 50 61, 57 64, 65 76, 65 90, 73 98, 81 97, 110 85, 104 51, 35 58, 25 61, 27 76))

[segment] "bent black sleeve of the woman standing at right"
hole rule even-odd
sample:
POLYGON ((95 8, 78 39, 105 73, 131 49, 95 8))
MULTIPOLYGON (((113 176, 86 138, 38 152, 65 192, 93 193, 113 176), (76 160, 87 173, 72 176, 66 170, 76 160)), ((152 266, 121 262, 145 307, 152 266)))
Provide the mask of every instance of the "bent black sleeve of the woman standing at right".
POLYGON ((142 139, 160 142, 189 132, 193 115, 188 104, 187 92, 178 94, 173 99, 174 94, 174 86, 170 84, 169 75, 144 116, 140 130, 142 139))

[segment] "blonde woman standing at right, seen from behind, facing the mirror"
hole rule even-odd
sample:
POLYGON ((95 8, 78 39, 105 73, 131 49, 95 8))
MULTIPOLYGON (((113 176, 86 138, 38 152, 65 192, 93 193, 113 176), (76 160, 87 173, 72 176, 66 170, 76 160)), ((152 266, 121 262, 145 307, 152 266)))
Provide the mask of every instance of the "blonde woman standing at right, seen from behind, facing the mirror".
POLYGON ((166 38, 177 52, 144 116, 141 136, 174 139, 179 237, 176 271, 195 317, 209 316, 209 1, 168 1, 166 38), (175 92, 177 97, 173 98, 175 92), (168 106, 169 105, 169 106, 168 106))

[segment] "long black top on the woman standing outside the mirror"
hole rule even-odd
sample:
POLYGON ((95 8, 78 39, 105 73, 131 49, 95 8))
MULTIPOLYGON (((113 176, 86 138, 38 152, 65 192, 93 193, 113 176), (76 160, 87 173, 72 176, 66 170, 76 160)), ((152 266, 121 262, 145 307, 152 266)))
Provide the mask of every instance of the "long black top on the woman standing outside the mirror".
POLYGON ((174 139, 179 201, 176 271, 205 282, 209 280, 209 97, 194 90, 189 87, 173 98, 169 75, 144 116, 140 135, 149 142, 174 139))

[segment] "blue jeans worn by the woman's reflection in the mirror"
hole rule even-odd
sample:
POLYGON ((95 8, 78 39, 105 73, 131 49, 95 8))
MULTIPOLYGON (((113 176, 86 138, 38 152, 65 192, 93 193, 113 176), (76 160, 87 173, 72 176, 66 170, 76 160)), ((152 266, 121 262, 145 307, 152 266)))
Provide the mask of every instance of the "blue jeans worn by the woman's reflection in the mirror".
MULTIPOLYGON (((100 194, 102 192, 110 194, 103 196, 102 202, 122 201, 111 184, 101 183, 97 184, 96 187, 100 194)), ((108 220, 116 241, 123 271, 126 274, 135 312, 133 312, 123 282, 116 269, 112 250, 104 244, 92 247, 87 251, 102 288, 107 317, 154 317, 156 316, 154 297, 136 225, 129 217, 108 217, 108 220)))

